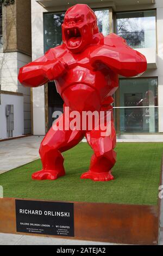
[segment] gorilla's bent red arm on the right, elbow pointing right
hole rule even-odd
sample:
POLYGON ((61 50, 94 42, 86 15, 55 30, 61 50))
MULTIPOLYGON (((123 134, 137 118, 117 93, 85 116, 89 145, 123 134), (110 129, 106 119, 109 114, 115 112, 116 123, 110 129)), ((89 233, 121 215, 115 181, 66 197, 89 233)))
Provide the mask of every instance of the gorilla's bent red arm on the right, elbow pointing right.
POLYGON ((102 62, 119 75, 137 76, 147 69, 147 60, 140 52, 130 48, 126 41, 116 34, 104 38, 104 45, 90 54, 90 62, 102 62))

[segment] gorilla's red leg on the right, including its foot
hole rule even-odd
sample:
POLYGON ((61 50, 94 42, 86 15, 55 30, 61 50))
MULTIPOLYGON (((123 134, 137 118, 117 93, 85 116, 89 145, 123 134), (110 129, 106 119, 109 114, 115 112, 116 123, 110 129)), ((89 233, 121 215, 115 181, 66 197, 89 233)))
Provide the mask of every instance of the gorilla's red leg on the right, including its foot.
POLYGON ((116 162, 116 153, 113 150, 116 145, 116 132, 114 123, 111 121, 111 134, 102 136, 101 130, 92 130, 86 133, 87 142, 94 151, 91 158, 90 169, 81 176, 81 179, 92 179, 94 181, 109 181, 114 177, 111 168, 116 162))

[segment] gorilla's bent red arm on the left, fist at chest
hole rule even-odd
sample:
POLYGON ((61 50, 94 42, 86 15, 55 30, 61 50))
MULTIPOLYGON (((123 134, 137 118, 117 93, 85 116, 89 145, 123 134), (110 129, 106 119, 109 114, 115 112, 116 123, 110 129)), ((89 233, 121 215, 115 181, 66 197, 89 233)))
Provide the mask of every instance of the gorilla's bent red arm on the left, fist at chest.
POLYGON ((66 64, 55 58, 54 48, 44 56, 20 69, 18 80, 23 86, 38 87, 53 81, 66 72, 66 64))

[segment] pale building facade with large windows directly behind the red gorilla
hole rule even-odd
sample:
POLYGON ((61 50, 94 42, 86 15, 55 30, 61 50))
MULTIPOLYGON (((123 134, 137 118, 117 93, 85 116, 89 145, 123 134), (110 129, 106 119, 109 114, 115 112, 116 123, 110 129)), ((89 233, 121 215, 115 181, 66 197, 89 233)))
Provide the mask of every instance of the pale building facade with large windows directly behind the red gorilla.
MULTIPOLYGON (((117 137, 163 139, 163 1, 162 0, 32 0, 32 58, 61 44, 65 11, 76 3, 88 4, 96 13, 104 35, 116 33, 147 58, 147 71, 140 77, 119 77, 114 95, 117 137)), ((33 88, 33 132, 45 135, 52 113, 62 109, 54 83, 33 88)))

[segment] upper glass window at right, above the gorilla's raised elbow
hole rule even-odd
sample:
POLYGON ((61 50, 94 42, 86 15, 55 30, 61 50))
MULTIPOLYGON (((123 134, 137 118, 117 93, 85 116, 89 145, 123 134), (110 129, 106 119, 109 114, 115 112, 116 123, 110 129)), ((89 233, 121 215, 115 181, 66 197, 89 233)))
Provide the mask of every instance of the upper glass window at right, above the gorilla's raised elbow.
POLYGON ((133 48, 156 47, 156 11, 132 11, 116 14, 116 33, 133 48))

